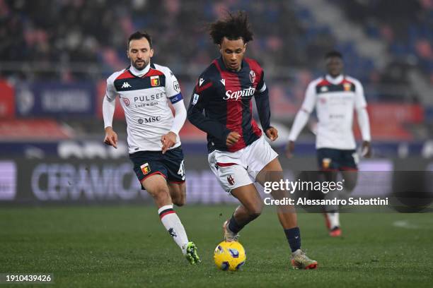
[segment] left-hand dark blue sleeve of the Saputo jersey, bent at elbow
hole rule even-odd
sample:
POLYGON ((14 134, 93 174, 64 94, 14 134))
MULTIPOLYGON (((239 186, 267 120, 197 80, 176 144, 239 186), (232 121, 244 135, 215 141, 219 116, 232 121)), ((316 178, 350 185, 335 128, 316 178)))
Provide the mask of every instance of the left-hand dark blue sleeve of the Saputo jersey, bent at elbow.
POLYGON ((231 131, 227 129, 226 126, 219 123, 219 121, 210 119, 203 114, 203 111, 207 109, 209 105, 209 99, 212 97, 213 92, 214 87, 212 81, 200 78, 192 92, 187 117, 188 120, 200 130, 215 138, 225 140, 231 131))

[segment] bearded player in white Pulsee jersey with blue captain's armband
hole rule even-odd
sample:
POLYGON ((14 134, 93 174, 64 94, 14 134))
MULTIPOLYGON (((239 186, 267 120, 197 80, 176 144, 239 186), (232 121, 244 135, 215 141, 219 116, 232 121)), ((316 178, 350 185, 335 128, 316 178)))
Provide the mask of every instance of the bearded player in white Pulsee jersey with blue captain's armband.
POLYGON ((129 37, 127 56, 131 65, 107 80, 103 100, 104 143, 117 148, 112 129, 115 97, 119 95, 127 121, 129 158, 134 171, 158 207, 161 222, 191 264, 200 262, 197 248, 187 234, 173 204, 185 204, 185 168, 179 131, 186 109, 178 80, 165 66, 151 63, 152 41, 146 32, 129 37), (173 104, 175 116, 168 105, 173 104))

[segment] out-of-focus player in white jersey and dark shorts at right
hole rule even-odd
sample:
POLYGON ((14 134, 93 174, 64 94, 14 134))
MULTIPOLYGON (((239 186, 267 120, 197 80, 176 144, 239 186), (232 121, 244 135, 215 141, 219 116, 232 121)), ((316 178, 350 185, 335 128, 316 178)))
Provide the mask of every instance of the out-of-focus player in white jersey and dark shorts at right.
MULTIPOLYGON (((341 172, 345 180, 345 192, 350 193, 357 184, 356 143, 352 131, 354 109, 357 111, 362 133, 362 155, 371 156, 370 124, 366 111, 364 88, 359 80, 342 74, 342 54, 337 51, 325 55, 328 73, 313 80, 306 89, 304 103, 296 114, 286 148, 287 157, 294 151, 294 141, 308 121, 314 108, 318 116, 316 149, 318 167, 325 172, 326 181, 337 181, 341 172)), ((339 191, 326 194, 325 198, 342 197, 339 191)), ((337 206, 325 207, 325 219, 330 236, 340 236, 340 215, 337 206)))

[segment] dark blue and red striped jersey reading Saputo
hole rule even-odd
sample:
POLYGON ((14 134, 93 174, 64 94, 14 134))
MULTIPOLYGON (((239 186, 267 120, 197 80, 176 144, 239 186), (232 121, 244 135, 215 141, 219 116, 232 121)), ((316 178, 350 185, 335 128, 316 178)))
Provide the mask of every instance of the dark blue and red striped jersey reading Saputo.
POLYGON ((188 107, 188 119, 207 133, 209 152, 235 152, 262 136, 253 119, 252 97, 266 131, 270 128, 269 94, 263 69, 255 60, 244 58, 241 70, 231 71, 220 57, 200 75, 188 107), (226 138, 231 131, 238 132, 241 138, 227 147, 226 138))

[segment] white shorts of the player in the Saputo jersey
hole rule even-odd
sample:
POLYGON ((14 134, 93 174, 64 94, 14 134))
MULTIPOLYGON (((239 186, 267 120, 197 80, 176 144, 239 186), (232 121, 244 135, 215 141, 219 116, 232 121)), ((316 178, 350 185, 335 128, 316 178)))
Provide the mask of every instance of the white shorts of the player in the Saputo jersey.
POLYGON ((277 152, 262 136, 236 152, 214 150, 207 161, 221 187, 230 193, 234 188, 253 184, 263 167, 277 157, 277 152))

